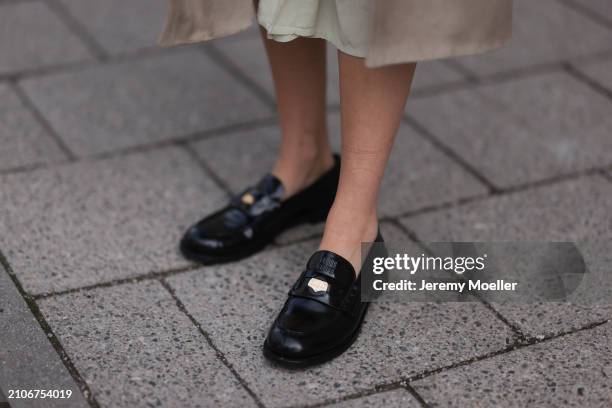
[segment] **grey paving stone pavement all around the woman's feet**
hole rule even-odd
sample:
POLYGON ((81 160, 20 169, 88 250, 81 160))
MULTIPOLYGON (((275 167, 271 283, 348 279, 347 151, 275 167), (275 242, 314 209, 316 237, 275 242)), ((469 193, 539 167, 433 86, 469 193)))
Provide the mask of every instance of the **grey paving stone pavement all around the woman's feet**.
MULTIPOLYGON (((382 188, 389 240, 612 235, 612 2, 516 3, 510 46, 419 66, 382 188)), ((239 263, 179 256, 190 222, 269 168, 278 129, 256 30, 161 49, 163 12, 161 0, 0 0, 0 399, 612 405, 605 305, 376 304, 333 362, 266 363, 265 330, 322 226, 239 263)))

